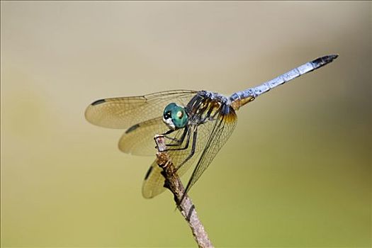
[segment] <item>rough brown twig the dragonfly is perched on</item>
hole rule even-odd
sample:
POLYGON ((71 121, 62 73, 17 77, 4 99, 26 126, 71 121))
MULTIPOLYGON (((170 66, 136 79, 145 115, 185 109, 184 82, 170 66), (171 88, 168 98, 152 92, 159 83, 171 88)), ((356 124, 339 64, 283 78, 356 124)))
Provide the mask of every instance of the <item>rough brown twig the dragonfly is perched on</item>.
POLYGON ((196 214, 195 205, 193 205, 193 202, 187 194, 184 196, 185 189, 179 176, 175 172, 176 170, 174 165, 167 153, 167 145, 165 145, 164 136, 156 135, 154 140, 157 143, 158 150, 157 164, 163 169, 162 174, 165 178, 165 186, 173 193, 177 208, 181 212, 182 216, 184 216, 188 226, 191 228, 194 239, 198 243, 199 247, 213 247, 212 242, 210 242, 210 239, 208 238, 207 232, 205 232, 203 224, 196 214), (181 201, 183 196, 184 198, 181 204, 179 204, 179 201, 181 201))

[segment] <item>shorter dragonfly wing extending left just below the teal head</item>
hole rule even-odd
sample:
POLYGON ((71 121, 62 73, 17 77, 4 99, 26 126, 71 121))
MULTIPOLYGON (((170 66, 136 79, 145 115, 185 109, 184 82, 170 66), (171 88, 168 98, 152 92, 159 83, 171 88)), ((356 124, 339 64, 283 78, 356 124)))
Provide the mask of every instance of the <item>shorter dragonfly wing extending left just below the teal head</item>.
POLYGON ((135 155, 152 155, 155 149, 154 136, 167 132, 169 128, 162 117, 145 120, 128 128, 119 140, 119 149, 122 152, 135 155))

